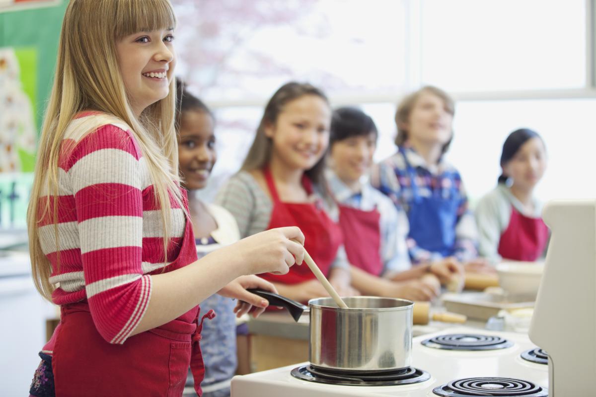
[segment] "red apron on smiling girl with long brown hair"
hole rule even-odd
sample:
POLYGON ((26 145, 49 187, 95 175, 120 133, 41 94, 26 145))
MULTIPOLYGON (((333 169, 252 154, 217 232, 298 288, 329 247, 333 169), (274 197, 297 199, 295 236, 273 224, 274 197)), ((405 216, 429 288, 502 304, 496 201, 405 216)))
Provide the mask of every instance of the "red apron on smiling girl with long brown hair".
MULTIPOLYGON (((297 226, 305 236, 304 247, 325 276, 329 275, 331 263, 337 255, 337 249, 342 245, 342 232, 337 223, 332 221, 322 205, 312 203, 281 202, 275 189, 271 171, 266 167, 263 170, 269 193, 273 201, 271 220, 267 229, 276 227, 297 226)), ((304 175, 302 185, 308 195, 312 194, 311 181, 304 175)), ((298 284, 312 280, 315 275, 308 266, 292 266, 288 274, 261 274, 263 279, 275 283, 298 284)))

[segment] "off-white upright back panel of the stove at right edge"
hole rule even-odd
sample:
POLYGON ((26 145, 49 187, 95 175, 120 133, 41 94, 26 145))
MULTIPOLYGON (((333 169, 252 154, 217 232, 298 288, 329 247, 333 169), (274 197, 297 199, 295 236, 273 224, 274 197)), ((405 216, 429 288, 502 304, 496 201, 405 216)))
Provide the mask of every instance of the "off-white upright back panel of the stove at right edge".
POLYGON ((596 201, 551 202, 552 235, 530 339, 549 354, 550 397, 594 396, 596 201))

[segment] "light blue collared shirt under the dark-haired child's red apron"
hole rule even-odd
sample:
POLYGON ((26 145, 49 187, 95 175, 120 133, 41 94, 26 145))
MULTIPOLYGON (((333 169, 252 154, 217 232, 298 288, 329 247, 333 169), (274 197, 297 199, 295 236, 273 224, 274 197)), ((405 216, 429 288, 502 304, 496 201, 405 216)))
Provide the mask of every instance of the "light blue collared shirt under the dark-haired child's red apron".
POLYGON ((376 210, 380 213, 379 231, 381 236, 381 260, 383 260, 383 276, 407 270, 411 267, 406 236, 408 236, 408 217, 401 208, 396 208, 393 202, 383 193, 374 189, 368 180, 363 181, 358 191, 346 186, 332 170, 325 175, 329 188, 339 204, 349 205, 362 211, 376 210))

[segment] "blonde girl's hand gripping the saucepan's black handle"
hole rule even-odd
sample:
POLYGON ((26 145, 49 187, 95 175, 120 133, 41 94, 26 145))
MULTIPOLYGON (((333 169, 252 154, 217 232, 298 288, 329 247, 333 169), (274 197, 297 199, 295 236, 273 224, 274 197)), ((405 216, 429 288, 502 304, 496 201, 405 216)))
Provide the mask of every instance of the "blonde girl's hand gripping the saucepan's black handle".
POLYGON ((259 317, 265 308, 269 306, 269 302, 261 298, 259 295, 254 295, 247 291, 249 288, 265 289, 274 293, 278 293, 275 286, 267 280, 263 280, 257 276, 241 276, 219 290, 219 295, 226 298, 238 299, 238 304, 234 308, 236 317, 241 317, 249 311, 252 311, 253 317, 259 317))

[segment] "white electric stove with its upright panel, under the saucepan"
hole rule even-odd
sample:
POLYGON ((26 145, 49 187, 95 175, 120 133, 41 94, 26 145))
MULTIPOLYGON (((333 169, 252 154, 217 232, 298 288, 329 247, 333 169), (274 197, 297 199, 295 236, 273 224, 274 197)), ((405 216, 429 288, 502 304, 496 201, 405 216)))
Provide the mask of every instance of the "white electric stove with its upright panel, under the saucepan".
MULTIPOLYGON (((596 374, 596 201, 551 202, 543 212, 552 236, 545 260, 544 274, 529 336, 521 333, 489 332, 458 328, 415 337, 412 365, 426 371, 429 379, 420 383, 398 386, 343 386, 308 382, 291 375, 290 365, 232 379, 233 397, 252 396, 402 396, 460 397, 470 395, 495 396, 596 396, 593 385, 596 374), (433 349, 422 342, 433 336, 451 333, 472 333, 499 336, 513 342, 501 350, 451 351, 433 349), (530 340, 531 338, 531 340, 530 340), (522 358, 535 352, 548 365, 522 358), (512 378, 524 387, 542 387, 534 393, 511 393, 507 382, 480 381, 476 394, 451 392, 454 382, 471 377, 512 378), (444 389, 442 386, 447 385, 444 389)), ((465 383, 465 382, 464 382, 465 383)), ((511 386, 513 387, 513 386, 511 386)), ((517 387, 517 386, 515 386, 517 387)), ((514 387, 513 387, 514 388, 514 387)), ((515 391, 515 390, 514 390, 515 391)), ((523 390, 522 390, 523 391, 523 390)))

